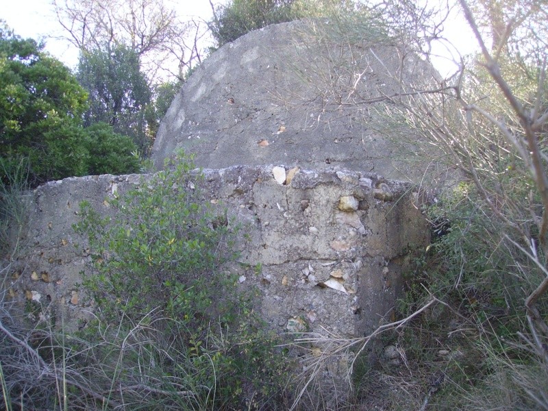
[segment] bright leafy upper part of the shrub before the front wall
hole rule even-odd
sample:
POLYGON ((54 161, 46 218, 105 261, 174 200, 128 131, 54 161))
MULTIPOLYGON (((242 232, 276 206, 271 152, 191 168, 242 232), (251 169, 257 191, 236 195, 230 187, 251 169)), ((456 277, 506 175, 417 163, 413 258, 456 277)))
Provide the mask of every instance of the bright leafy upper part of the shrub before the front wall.
POLYGON ((85 284, 105 315, 108 310, 114 317, 124 312, 137 318, 161 304, 190 325, 193 308, 205 312, 212 304, 204 284, 231 281, 219 266, 229 257, 235 230, 210 225, 214 216, 186 188, 189 172, 190 165, 182 163, 173 173, 143 180, 110 202, 112 218, 82 206, 79 230, 86 229, 95 262, 85 284))

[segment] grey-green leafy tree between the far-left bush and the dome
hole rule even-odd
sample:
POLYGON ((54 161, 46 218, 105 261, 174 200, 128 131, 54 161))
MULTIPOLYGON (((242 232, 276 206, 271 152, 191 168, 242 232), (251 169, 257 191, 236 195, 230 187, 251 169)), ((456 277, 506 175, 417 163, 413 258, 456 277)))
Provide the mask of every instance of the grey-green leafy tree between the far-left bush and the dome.
POLYGON ((123 45, 82 51, 77 79, 88 91, 90 107, 84 125, 104 122, 133 138, 146 153, 151 145, 144 111, 151 103, 147 78, 140 71, 138 54, 123 45))

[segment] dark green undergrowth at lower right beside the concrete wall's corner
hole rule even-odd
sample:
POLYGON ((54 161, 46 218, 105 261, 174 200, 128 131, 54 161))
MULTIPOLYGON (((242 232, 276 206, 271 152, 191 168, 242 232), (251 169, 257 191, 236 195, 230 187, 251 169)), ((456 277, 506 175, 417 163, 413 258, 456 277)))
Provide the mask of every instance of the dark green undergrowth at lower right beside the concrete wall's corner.
MULTIPOLYGON (((547 359, 531 343, 542 337, 524 304, 543 272, 508 240, 508 226, 487 218, 466 182, 425 214, 432 242, 406 274, 396 319, 426 301, 436 304, 382 338, 399 355, 390 362, 379 352, 376 365, 358 369, 355 403, 390 410, 545 410, 547 359)), ((539 311, 547 310, 547 301, 539 301, 539 311)))

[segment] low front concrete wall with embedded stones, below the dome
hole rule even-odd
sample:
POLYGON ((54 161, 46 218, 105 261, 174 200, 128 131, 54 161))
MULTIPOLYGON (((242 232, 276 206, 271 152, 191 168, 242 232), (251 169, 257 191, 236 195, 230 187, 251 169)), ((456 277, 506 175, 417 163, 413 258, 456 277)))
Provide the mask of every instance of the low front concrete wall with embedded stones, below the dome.
MULTIPOLYGON (((234 166, 204 171, 203 201, 227 208, 249 239, 240 263, 226 267, 242 286, 256 286, 264 319, 279 332, 362 336, 390 317, 401 269, 428 230, 409 186, 374 174, 234 166), (255 267, 262 267, 260 273, 255 267), (247 267, 247 268, 246 268, 247 267)), ((73 232, 79 203, 102 214, 109 198, 142 176, 68 178, 30 195, 28 238, 34 243, 11 273, 12 298, 51 305, 58 324, 78 325, 92 302, 80 272, 90 261, 86 240, 73 232)), ((220 211, 221 212, 221 211, 220 211)), ((38 320, 38 317, 34 320, 38 320)))

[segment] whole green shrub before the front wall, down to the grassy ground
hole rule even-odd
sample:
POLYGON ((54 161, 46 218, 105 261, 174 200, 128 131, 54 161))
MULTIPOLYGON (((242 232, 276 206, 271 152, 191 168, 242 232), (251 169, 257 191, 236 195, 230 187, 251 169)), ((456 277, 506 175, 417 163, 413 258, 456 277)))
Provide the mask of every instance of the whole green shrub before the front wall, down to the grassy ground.
MULTIPOLYGON (((253 290, 238 292, 237 278, 223 269, 237 256, 238 227, 201 203, 202 177, 192 164, 171 166, 109 200, 111 217, 82 204, 75 228, 89 239, 93 266, 84 288, 97 320, 81 338, 92 342, 101 373, 122 386, 143 379, 137 364, 153 362, 145 367, 148 387, 162 406, 247 409, 279 401, 285 374, 276 339, 253 311, 253 290), (118 343, 105 346, 103 338, 118 343), (128 341, 140 349, 125 352, 128 341), (191 401, 177 396, 181 390, 192 392, 191 401)), ((132 401, 151 406, 148 397, 132 401)))

